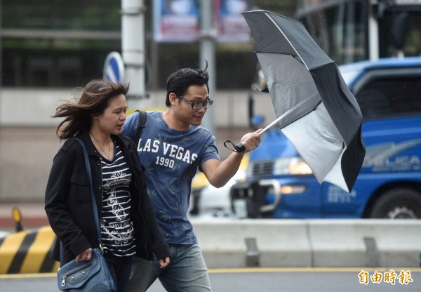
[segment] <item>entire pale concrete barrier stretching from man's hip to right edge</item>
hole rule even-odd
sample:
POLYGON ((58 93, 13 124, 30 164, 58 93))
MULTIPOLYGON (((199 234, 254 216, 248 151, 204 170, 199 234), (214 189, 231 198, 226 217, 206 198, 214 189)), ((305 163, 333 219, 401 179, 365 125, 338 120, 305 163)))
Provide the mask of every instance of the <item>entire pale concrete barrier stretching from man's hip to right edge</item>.
POLYGON ((421 220, 192 222, 209 268, 420 267, 421 264, 421 220))

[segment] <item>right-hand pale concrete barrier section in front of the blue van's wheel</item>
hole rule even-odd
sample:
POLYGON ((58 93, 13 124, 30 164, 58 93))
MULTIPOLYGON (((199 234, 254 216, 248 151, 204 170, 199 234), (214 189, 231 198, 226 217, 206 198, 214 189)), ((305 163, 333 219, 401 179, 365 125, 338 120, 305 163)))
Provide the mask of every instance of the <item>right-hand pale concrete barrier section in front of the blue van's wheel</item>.
POLYGON ((421 220, 309 221, 314 267, 420 267, 421 220))

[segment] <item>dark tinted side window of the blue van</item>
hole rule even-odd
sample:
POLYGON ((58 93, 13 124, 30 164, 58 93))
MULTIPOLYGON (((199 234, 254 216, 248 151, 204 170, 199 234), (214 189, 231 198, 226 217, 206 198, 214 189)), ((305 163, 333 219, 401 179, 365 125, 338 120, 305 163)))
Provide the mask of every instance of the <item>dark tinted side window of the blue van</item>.
POLYGON ((373 77, 355 98, 364 119, 421 114, 421 76, 373 77))

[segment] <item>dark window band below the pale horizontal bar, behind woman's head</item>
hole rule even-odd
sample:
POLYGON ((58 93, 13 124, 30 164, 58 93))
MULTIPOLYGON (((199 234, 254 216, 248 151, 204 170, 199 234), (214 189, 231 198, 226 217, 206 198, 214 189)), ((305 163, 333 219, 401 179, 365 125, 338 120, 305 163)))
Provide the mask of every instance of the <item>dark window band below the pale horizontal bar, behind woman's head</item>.
POLYGON ((121 42, 3 39, 3 86, 78 86, 102 77, 105 58, 121 42))

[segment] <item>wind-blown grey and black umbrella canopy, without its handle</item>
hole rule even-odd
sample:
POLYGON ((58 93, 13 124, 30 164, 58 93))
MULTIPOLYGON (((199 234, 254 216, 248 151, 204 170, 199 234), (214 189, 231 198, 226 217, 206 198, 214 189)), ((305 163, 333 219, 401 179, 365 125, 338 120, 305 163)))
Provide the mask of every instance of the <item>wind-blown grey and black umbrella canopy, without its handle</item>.
POLYGON ((319 183, 350 192, 366 150, 362 114, 338 66, 301 22, 269 11, 243 17, 255 39, 276 123, 319 183))

